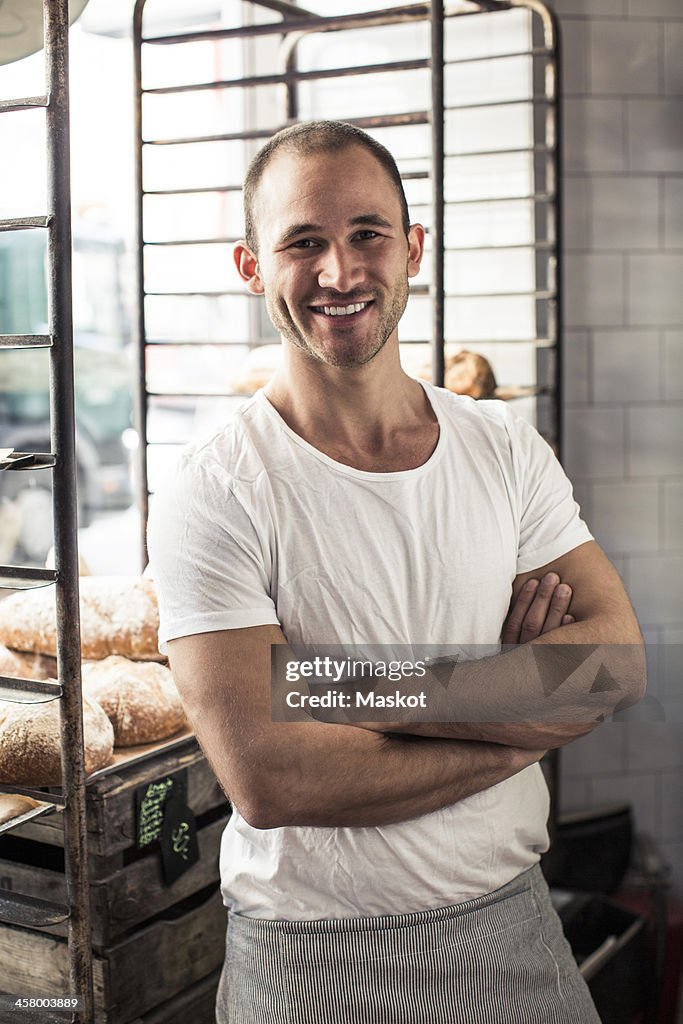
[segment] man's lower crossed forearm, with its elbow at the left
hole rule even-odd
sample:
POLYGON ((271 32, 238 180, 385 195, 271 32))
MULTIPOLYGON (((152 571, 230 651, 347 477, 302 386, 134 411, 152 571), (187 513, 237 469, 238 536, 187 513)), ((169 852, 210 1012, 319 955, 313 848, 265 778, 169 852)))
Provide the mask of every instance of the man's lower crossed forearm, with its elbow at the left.
POLYGON ((188 708, 228 797, 251 824, 365 826, 455 804, 537 762, 543 751, 457 739, 389 737, 324 723, 268 723, 226 745, 229 710, 188 708))

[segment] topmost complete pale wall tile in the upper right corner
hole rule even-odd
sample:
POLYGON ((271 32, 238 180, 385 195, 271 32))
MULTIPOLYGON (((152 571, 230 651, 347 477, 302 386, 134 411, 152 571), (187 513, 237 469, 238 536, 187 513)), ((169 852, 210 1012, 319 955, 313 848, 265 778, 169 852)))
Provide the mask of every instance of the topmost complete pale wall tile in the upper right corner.
POLYGON ((659 88, 659 27, 654 23, 590 23, 593 93, 638 95, 659 88))

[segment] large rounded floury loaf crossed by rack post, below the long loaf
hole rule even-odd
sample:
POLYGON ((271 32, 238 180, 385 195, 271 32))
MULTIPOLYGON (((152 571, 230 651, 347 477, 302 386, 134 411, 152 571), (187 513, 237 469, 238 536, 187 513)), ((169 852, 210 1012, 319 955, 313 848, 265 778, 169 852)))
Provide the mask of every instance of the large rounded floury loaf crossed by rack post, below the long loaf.
MULTIPOLYGON (((8 703, 0 710, 0 782, 60 785, 58 700, 8 703), (3 714, 4 712, 4 714, 3 714)), ((85 771, 103 768, 114 754, 112 723, 96 701, 83 697, 85 771)))

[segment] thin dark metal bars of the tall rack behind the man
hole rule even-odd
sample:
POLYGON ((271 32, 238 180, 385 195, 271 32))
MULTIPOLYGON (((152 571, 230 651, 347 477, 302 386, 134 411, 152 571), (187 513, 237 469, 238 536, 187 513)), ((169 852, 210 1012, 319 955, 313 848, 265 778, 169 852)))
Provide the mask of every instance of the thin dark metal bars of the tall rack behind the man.
MULTIPOLYGON (((142 32, 142 18, 146 0, 137 0, 134 11, 133 42, 135 58, 135 166, 136 166, 136 230, 137 230, 137 264, 136 264, 136 286, 137 286, 137 323, 135 329, 135 342, 137 350, 138 370, 138 391, 136 396, 136 425, 140 437, 139 459, 137 467, 139 498, 141 503, 141 550, 142 560, 146 563, 145 524, 148 511, 148 475, 147 475, 147 413, 150 397, 153 394, 147 388, 146 377, 146 354, 148 346, 155 342, 147 337, 145 324, 145 298, 152 295, 240 295, 244 293, 238 291, 221 292, 163 292, 155 293, 147 291, 144 284, 144 254, 145 250, 155 245, 181 245, 189 244, 189 240, 178 240, 176 242, 155 243, 147 241, 144 234, 144 199, 150 195, 198 195, 200 193, 229 193, 239 191, 239 187, 230 184, 216 185, 213 187, 198 188, 168 188, 159 190, 145 190, 143 181, 142 159, 143 152, 148 146, 180 145, 193 142, 212 141, 247 141, 252 139, 268 138, 272 132, 287 124, 295 123, 298 118, 299 104, 297 97, 297 86, 301 82, 310 82, 325 78, 345 77, 350 75, 370 74, 373 72, 391 73, 392 71, 416 70, 429 68, 431 71, 431 111, 412 111, 401 114, 386 115, 380 117, 367 116, 349 118, 347 120, 367 129, 376 129, 396 125, 429 124, 431 128, 431 167, 430 171, 409 172, 404 174, 405 179, 410 178, 431 178, 432 188, 432 221, 430 233, 432 238, 432 282, 429 287, 424 285, 413 285, 411 294, 426 294, 432 300, 432 379, 436 383, 443 381, 444 364, 444 310, 446 288, 444 285, 444 213, 445 201, 443 193, 444 184, 444 114, 449 109, 444 102, 444 23, 450 17, 476 16, 481 13, 493 11, 511 10, 520 8, 538 15, 537 22, 540 28, 535 30, 535 40, 531 50, 523 54, 503 54, 503 56, 530 55, 533 58, 535 77, 537 70, 536 58, 541 57, 545 62, 545 68, 541 81, 536 83, 540 95, 531 100, 531 106, 538 104, 545 105, 544 134, 543 140, 539 143, 533 141, 532 153, 536 160, 540 160, 544 165, 543 187, 536 184, 532 195, 519 197, 528 200, 533 204, 535 216, 537 219, 539 211, 543 208, 543 216, 546 219, 547 239, 536 242, 532 248, 537 256, 545 254, 546 260, 546 282, 543 288, 537 287, 532 293, 538 302, 546 301, 548 310, 547 336, 543 339, 537 338, 537 345, 555 350, 555 367, 553 371, 554 386, 548 391, 543 387, 538 388, 538 393, 549 395, 552 409, 549 417, 549 427, 546 433, 559 449, 561 445, 561 420, 559 415, 558 401, 553 402, 553 396, 557 394, 560 387, 560 324, 561 324, 561 274, 559 273, 559 253, 560 253, 560 175, 559 175, 559 142, 560 142, 560 111, 559 111, 559 52, 558 52, 558 24, 555 15, 541 0, 472 0, 466 9, 461 7, 444 6, 442 0, 437 0, 433 4, 414 3, 404 7, 394 7, 379 11, 368 11, 359 14, 340 14, 324 16, 312 13, 298 5, 287 2, 287 0, 243 0, 246 8, 269 9, 282 15, 282 20, 272 20, 266 24, 242 25, 236 28, 202 29, 195 32, 182 32, 175 35, 144 36, 142 32), (348 29, 378 28, 383 26, 401 25, 409 23, 430 23, 431 33, 431 53, 428 58, 415 60, 400 60, 391 63, 365 65, 361 67, 334 68, 321 71, 299 71, 296 68, 295 56, 299 42, 312 33, 334 33, 348 29), (227 40, 227 39, 256 39, 265 37, 282 37, 280 45, 280 68, 276 73, 268 75, 247 76, 243 78, 229 79, 227 81, 208 81, 199 84, 168 85, 161 88, 145 89, 142 85, 142 49, 144 46, 168 46, 182 45, 207 40, 227 40), (263 85, 280 84, 285 87, 286 102, 284 116, 280 125, 273 125, 270 129, 253 129, 242 132, 225 132, 213 135, 180 136, 176 138, 145 138, 143 133, 143 112, 142 101, 145 95, 152 94, 173 94, 187 93, 206 90, 231 89, 231 88, 252 88, 263 85), (552 393, 551 393, 552 392, 552 393)), ((499 56, 499 54, 496 54, 499 56)), ((486 57, 470 57, 460 59, 458 63, 486 59, 486 57)), ((458 103, 459 110, 475 109, 476 106, 505 105, 510 100, 500 100, 499 102, 487 103, 458 103)), ((453 109, 453 106, 451 108, 453 109)), ((502 153, 505 151, 495 151, 502 153)), ((513 152, 513 151, 508 151, 513 152)), ((516 151, 514 151, 516 152, 516 151)), ((468 154, 468 156, 480 156, 481 154, 468 154)), ((535 177, 536 181, 536 169, 535 177)), ((463 200, 461 203, 469 201, 463 200)), ((479 202, 479 201, 477 201, 479 202)), ((497 202, 495 199, 482 200, 481 202, 497 202)), ((191 240, 194 244, 208 244, 211 242, 237 241, 228 238, 212 238, 202 240, 191 240)), ((502 248, 502 247, 500 247, 502 248)), ((538 285, 538 272, 536 273, 538 285)), ((496 294, 487 296, 495 297, 496 294)), ((486 296, 481 296, 486 298, 486 296)), ((229 342, 212 341, 211 344, 229 344, 229 342)), ((196 344, 196 342, 169 342, 169 344, 196 344)), ((538 358, 538 354, 537 354, 538 358)), ((159 394, 161 392, 154 392, 159 394)), ((182 393, 185 397, 194 397, 188 392, 173 392, 174 395, 182 393)), ((212 395, 225 395, 226 391, 202 392, 202 397, 212 395)), ((197 395, 199 397, 199 395, 197 395)))

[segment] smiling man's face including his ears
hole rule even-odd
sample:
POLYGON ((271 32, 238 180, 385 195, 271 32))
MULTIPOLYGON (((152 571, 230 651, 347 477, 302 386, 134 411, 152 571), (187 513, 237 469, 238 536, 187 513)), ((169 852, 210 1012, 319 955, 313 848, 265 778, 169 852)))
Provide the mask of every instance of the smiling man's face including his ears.
POLYGON ((396 332, 424 239, 419 225, 405 238, 382 165, 357 145, 281 152, 261 178, 255 221, 258 257, 247 272, 236 260, 276 330, 328 366, 369 362, 396 332))

